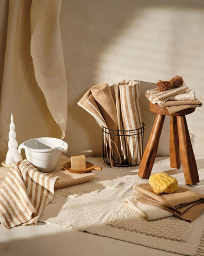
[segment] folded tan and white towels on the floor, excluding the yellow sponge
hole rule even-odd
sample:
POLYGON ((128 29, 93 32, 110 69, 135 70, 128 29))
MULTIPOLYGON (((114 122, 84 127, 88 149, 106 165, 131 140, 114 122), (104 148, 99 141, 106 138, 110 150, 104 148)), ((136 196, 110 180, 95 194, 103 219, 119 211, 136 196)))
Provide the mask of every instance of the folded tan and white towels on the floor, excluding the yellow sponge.
POLYGON ((184 187, 162 195, 155 194, 149 183, 135 185, 133 189, 135 195, 126 198, 125 203, 148 220, 176 215, 191 222, 204 210, 204 195, 184 187))

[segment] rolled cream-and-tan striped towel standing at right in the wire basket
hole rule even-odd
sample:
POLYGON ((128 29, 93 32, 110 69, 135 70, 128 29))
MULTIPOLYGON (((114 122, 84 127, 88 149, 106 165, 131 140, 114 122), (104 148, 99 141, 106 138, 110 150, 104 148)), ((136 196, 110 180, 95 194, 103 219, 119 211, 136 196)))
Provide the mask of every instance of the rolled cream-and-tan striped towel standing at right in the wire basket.
POLYGON ((126 154, 128 162, 131 165, 137 165, 141 158, 141 145, 140 135, 135 135, 137 131, 131 131, 140 129, 142 127, 141 109, 140 109, 140 93, 138 81, 123 81, 119 83, 120 100, 121 100, 121 115, 125 143, 126 154))

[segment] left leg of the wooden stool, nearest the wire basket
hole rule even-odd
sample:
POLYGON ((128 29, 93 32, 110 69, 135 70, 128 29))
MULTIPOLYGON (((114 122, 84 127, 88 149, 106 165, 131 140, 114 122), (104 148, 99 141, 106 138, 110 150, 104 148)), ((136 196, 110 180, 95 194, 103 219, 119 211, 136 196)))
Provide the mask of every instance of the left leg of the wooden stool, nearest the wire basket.
POLYGON ((160 135, 164 124, 165 115, 157 114, 154 126, 147 142, 145 152, 142 156, 138 175, 142 179, 149 179, 152 167, 155 162, 160 135))

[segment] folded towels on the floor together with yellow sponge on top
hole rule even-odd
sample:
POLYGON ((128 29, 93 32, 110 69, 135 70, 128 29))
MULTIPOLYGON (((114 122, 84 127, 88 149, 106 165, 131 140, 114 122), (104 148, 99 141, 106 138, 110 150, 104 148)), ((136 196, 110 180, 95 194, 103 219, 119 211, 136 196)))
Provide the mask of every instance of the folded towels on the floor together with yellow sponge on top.
POLYGON ((125 203, 147 220, 175 215, 193 221, 204 210, 204 195, 178 186, 166 173, 150 175, 149 183, 135 185, 133 195, 125 203))

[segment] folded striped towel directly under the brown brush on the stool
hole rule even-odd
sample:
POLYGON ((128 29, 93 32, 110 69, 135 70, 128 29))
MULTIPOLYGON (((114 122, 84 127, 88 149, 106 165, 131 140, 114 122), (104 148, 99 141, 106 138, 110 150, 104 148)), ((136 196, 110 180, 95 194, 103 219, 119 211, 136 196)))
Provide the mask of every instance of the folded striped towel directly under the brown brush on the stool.
POLYGON ((188 89, 189 87, 186 85, 179 86, 174 89, 166 90, 163 92, 159 92, 157 89, 151 89, 151 90, 147 90, 145 95, 151 103, 160 104, 167 101, 168 99, 170 99, 171 97, 177 94, 184 93, 188 89))

